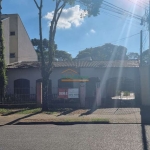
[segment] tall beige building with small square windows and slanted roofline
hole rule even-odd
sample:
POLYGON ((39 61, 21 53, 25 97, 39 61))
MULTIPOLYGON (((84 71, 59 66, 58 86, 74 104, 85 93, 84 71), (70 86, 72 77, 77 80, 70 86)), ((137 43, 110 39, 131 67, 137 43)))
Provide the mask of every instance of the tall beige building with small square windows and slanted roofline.
POLYGON ((3 36, 6 64, 37 61, 37 54, 18 14, 3 14, 3 36))

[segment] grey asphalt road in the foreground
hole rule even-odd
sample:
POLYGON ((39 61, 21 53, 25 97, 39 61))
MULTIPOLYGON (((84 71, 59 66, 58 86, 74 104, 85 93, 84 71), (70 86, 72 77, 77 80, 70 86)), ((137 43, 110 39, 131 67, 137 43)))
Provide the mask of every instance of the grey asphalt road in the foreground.
POLYGON ((148 150, 148 141, 140 124, 0 127, 0 150, 148 150))

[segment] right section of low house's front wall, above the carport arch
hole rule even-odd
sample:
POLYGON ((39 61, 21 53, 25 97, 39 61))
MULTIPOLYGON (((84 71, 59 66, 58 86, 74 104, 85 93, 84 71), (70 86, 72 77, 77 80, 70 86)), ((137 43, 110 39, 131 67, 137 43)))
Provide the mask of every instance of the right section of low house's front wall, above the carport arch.
MULTIPOLYGON (((126 77, 134 80, 135 86, 139 85, 139 68, 81 68, 81 76, 98 77, 100 79, 100 92, 102 98, 106 97, 107 80, 115 77, 126 77)), ((135 92, 138 88, 135 88, 135 92)))

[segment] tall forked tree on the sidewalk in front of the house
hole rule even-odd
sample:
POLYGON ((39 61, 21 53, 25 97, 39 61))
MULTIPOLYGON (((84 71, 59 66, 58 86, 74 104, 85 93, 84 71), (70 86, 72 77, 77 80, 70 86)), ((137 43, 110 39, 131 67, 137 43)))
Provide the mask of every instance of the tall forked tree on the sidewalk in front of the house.
POLYGON ((48 109, 48 81, 49 76, 53 70, 53 58, 55 56, 55 34, 58 20, 65 6, 74 5, 78 3, 85 8, 88 16, 96 16, 99 14, 99 9, 103 0, 55 0, 55 9, 51 25, 49 28, 49 48, 48 48, 48 62, 44 60, 43 54, 43 41, 42 41, 42 7, 43 0, 40 0, 38 5, 37 1, 34 0, 39 10, 39 34, 40 34, 40 53, 41 53, 41 74, 42 74, 42 110, 48 109))

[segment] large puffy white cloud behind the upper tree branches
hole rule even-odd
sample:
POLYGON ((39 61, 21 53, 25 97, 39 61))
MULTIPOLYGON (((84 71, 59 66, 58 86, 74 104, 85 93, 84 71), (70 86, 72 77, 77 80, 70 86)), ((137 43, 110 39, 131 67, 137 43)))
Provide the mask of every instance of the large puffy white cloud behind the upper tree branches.
MULTIPOLYGON (((48 12, 47 15, 44 16, 44 18, 49 20, 49 25, 53 15, 54 11, 48 12)), ((78 27, 83 23, 85 15, 86 12, 83 9, 80 9, 79 5, 64 9, 59 18, 57 27, 62 29, 69 29, 72 26, 78 27)))

